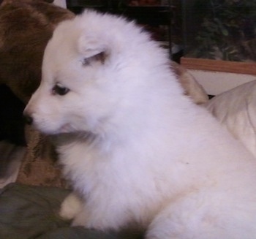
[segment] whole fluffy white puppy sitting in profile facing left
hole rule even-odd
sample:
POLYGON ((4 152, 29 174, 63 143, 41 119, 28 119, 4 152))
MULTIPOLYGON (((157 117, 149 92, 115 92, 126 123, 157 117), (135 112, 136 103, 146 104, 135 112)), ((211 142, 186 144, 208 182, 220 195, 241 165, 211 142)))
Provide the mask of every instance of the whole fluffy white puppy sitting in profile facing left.
POLYGON ((150 239, 255 239, 256 160, 184 96, 165 50, 134 23, 86 11, 45 49, 25 113, 58 151, 73 225, 150 239))

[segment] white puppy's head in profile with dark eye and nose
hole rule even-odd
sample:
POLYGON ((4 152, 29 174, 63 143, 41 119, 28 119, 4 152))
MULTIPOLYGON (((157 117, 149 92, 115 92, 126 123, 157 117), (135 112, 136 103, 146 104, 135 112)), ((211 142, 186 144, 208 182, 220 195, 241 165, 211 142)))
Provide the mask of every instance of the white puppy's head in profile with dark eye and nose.
POLYGON ((29 123, 46 134, 99 133, 136 105, 151 48, 148 34, 123 18, 84 12, 64 21, 45 48, 42 81, 24 111, 29 123))

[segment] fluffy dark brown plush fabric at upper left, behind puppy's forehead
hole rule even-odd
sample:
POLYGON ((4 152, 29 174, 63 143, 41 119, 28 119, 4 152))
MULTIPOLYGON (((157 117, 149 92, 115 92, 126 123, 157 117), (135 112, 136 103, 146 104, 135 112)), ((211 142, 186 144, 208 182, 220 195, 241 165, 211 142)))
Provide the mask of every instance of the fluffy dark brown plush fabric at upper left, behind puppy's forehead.
POLYGON ((4 0, 0 6, 0 83, 28 102, 39 85, 42 54, 53 29, 73 18, 45 1, 4 0))

